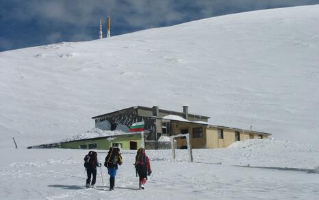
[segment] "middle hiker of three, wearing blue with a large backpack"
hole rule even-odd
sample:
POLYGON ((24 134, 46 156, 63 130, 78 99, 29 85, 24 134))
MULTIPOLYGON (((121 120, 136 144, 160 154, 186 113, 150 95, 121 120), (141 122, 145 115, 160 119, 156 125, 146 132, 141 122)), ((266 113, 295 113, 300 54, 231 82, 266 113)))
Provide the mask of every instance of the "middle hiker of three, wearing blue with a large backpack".
POLYGON ((116 171, 118 170, 118 165, 122 165, 122 163, 120 148, 110 147, 104 162, 104 166, 107 167, 107 173, 110 174, 110 191, 114 190, 116 171))

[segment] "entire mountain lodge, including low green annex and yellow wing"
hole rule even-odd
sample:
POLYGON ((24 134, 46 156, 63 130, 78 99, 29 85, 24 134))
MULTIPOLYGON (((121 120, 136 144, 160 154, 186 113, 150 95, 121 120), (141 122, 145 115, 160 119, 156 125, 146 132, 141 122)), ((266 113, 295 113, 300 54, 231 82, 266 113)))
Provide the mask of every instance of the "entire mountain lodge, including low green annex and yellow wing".
MULTIPOLYGON (((170 136, 190 134, 192 148, 222 148, 235 141, 246 139, 268 139, 267 132, 257 132, 208 123, 209 117, 188 113, 188 106, 183 106, 183 112, 175 112, 145 106, 133 106, 92 117, 95 126, 101 130, 112 130, 112 134, 103 137, 71 140, 61 143, 36 145, 29 148, 71 148, 71 149, 138 149, 142 145, 146 149, 170 148, 170 136), (129 127, 136 122, 144 122, 143 132, 129 132, 129 127), (163 139, 164 138, 164 139, 163 139)), ((175 147, 187 147, 185 137, 175 138, 175 147)))

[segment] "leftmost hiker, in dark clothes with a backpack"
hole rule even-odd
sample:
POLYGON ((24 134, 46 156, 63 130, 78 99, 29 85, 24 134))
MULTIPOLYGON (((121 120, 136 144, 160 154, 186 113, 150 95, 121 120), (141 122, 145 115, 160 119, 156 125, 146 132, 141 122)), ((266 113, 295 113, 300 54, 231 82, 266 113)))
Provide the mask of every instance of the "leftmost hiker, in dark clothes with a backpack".
POLYGON ((97 161, 97 152, 90 151, 84 158, 84 162, 84 167, 86 167, 86 173, 88 175, 88 178, 86 179, 86 188, 94 188, 94 184, 97 180, 97 167, 101 167, 101 163, 97 161))

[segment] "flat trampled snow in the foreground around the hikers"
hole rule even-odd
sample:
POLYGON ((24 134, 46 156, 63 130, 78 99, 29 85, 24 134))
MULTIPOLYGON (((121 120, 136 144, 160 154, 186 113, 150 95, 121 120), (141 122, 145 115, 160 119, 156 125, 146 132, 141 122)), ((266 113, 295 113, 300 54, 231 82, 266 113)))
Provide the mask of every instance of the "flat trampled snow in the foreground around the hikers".
MULTIPOLYGON (((145 190, 138 190, 133 161, 136 151, 122 150, 123 165, 115 191, 103 188, 101 169, 97 187, 85 189, 81 149, 2 149, 0 199, 316 199, 319 174, 285 167, 314 169, 319 149, 303 143, 273 140, 236 142, 225 149, 147 150, 153 173, 145 190), (6 156, 5 156, 6 155, 6 156), (237 167, 250 165, 251 167, 237 167), (278 169, 253 168, 278 167, 278 169)), ((106 150, 98 150, 103 163, 106 150)), ((102 167, 103 182, 109 186, 102 167)))

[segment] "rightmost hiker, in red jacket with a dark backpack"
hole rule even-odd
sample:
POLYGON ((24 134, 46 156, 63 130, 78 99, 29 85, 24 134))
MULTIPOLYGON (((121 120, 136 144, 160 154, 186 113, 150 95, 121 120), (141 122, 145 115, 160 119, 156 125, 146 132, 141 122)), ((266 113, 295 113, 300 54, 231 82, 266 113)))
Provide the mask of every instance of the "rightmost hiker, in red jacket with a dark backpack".
POLYGON ((149 157, 146 156, 144 148, 138 149, 134 165, 136 168, 136 173, 138 174, 138 177, 140 177, 138 186, 140 189, 144 190, 145 188, 144 185, 146 184, 147 175, 151 175, 152 173, 151 165, 149 163, 149 157))

